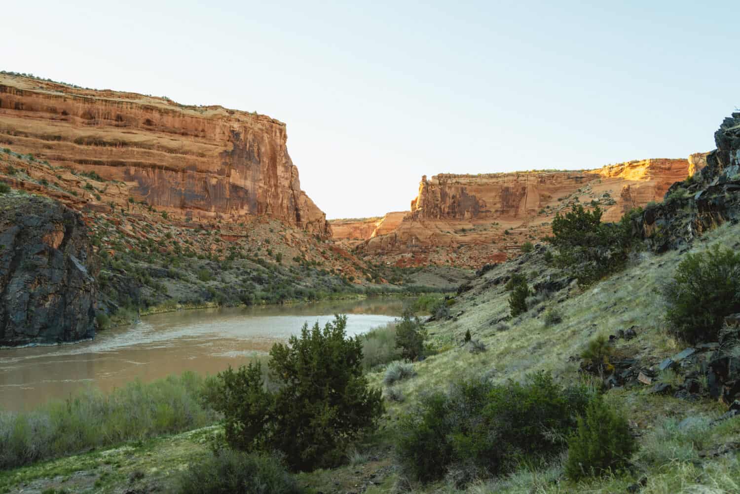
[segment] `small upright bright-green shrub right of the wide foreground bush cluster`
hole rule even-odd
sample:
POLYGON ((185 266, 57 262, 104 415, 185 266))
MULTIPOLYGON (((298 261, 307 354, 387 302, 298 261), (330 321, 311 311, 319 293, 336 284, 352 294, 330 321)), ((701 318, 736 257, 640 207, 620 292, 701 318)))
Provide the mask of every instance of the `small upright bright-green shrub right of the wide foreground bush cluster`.
POLYGON ((622 470, 636 451, 627 419, 613 410, 600 396, 578 418, 578 429, 568 441, 565 473, 573 480, 622 470))

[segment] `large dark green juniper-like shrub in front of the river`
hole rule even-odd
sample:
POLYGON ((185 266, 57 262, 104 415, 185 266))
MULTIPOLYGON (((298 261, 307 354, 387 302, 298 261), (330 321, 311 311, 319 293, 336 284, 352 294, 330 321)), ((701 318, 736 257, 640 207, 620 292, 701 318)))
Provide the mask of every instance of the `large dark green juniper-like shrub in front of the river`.
POLYGON ((238 450, 279 451, 293 470, 334 467, 347 444, 383 413, 380 390, 362 370, 362 341, 346 338, 346 316, 323 328, 303 326, 300 338, 275 344, 269 369, 279 382, 266 390, 261 365, 218 374, 213 407, 224 415, 226 441, 238 450))

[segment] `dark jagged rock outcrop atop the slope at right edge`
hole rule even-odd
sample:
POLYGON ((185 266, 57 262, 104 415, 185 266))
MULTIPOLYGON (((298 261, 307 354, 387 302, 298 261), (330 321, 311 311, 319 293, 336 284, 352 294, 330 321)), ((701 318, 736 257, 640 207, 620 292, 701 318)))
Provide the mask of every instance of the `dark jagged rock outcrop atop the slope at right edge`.
POLYGON ((673 184, 661 204, 645 207, 634 227, 654 252, 679 248, 725 221, 740 220, 740 113, 714 133, 717 149, 692 178, 673 184))

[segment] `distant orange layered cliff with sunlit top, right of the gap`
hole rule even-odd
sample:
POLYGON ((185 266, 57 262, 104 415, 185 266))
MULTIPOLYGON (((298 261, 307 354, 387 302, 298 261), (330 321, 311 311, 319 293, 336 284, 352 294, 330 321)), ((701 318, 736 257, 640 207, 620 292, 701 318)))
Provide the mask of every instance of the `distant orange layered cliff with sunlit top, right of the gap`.
MULTIPOLYGON (((662 200, 671 184, 705 166, 704 156, 596 170, 424 176, 411 211, 357 248, 400 265, 503 261, 523 242, 548 235, 555 214, 574 204, 599 205, 604 221, 617 221, 633 207, 662 200)), ((358 227, 355 234, 369 230, 358 227)))

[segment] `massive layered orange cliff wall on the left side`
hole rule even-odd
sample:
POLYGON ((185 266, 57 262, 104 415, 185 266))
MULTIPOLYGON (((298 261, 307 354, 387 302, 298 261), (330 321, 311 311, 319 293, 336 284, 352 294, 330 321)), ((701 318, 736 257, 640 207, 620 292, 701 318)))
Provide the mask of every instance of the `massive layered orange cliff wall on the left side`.
POLYGON ((122 181, 172 213, 266 215, 328 237, 286 141, 268 116, 0 74, 0 143, 16 152, 122 181))

